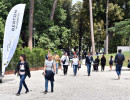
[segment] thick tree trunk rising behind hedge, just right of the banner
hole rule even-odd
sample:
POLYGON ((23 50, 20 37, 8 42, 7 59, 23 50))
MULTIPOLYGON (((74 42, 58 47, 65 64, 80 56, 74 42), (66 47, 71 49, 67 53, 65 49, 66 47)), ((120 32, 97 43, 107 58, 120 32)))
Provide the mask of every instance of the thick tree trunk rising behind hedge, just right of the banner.
POLYGON ((30 0, 28 47, 32 50, 34 0, 30 0))

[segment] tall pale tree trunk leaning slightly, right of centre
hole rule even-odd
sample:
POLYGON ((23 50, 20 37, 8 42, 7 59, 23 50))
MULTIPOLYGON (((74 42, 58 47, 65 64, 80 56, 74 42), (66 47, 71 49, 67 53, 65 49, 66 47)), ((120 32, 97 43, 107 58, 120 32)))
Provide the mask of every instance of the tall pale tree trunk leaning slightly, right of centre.
POLYGON ((89 0, 90 9, 90 30, 91 30, 91 41, 92 41, 92 54, 95 55, 95 41, 93 33, 93 12, 92 12, 92 0, 89 0))

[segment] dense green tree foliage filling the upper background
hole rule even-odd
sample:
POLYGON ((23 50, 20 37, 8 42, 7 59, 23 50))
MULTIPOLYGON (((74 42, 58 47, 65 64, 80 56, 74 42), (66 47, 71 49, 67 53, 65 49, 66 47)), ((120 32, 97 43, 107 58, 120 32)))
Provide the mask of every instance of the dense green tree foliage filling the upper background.
MULTIPOLYGON (((50 20, 53 0, 34 0, 34 27, 36 28, 36 47, 44 49, 75 48, 83 37, 83 49, 91 49, 89 0, 83 0, 72 5, 72 0, 58 0, 54 20, 50 20)), ((109 0, 109 38, 110 52, 113 46, 127 45, 129 36, 129 0, 109 0), (115 23, 116 22, 116 23, 115 23), (121 35, 122 41, 114 41, 121 35), (112 40, 111 40, 112 39, 112 40), (113 46, 111 41, 116 42, 113 46)), ((28 44, 29 0, 1 0, 0 1, 0 47, 3 44, 4 26, 11 8, 19 3, 25 3, 26 9, 18 47, 28 44)), ((96 47, 106 37, 106 0, 93 0, 94 35, 96 47), (100 29, 100 30, 99 30, 100 29), (101 37, 99 37, 99 34, 101 37)), ((33 38, 34 40, 34 38, 33 38)), ((98 48, 96 48, 98 49, 98 48)))

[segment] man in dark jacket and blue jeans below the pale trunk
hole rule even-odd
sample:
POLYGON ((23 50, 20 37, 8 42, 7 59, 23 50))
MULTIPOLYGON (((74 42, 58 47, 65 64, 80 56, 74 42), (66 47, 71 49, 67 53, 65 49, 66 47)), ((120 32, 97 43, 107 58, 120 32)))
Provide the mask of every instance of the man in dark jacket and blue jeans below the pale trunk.
POLYGON ((93 62, 93 57, 91 56, 90 53, 88 53, 88 55, 86 56, 86 66, 87 66, 88 76, 90 76, 91 63, 92 63, 92 62, 93 62))

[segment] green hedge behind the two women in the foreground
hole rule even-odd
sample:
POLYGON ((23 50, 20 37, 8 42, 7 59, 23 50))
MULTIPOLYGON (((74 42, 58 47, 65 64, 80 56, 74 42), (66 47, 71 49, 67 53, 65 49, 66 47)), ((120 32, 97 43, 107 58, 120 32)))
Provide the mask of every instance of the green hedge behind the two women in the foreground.
MULTIPOLYGON (((44 65, 45 61, 45 55, 47 54, 48 50, 45 50, 43 48, 33 48, 32 51, 28 48, 17 48, 15 51, 15 54, 13 58, 10 61, 9 66, 6 68, 6 70, 14 70, 15 67, 17 66, 19 62, 19 56, 20 54, 25 54, 27 62, 29 63, 30 67, 42 67, 44 65)), ((54 55, 54 51, 57 51, 57 54, 59 56, 62 55, 61 50, 56 50, 54 51, 50 50, 49 51, 54 55)))

